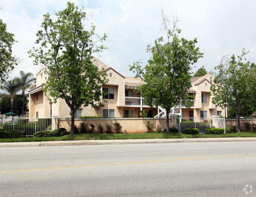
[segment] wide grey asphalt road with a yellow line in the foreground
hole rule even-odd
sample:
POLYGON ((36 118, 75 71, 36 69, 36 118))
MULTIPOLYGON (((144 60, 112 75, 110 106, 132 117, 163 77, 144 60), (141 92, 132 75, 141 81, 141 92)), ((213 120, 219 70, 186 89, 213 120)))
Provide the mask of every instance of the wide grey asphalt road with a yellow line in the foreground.
POLYGON ((1 147, 0 196, 256 196, 256 142, 1 147))

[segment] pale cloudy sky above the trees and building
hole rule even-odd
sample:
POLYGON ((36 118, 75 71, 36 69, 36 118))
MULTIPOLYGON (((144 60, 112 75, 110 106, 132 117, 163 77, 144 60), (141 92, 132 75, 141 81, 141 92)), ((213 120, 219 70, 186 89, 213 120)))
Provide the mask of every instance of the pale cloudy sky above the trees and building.
MULTIPOLYGON (((247 61, 256 63, 256 15, 254 0, 70 0, 86 13, 93 13, 85 23, 96 27, 99 35, 107 34, 103 50, 95 57, 124 76, 134 76, 129 65, 142 60, 147 64, 151 53, 147 45, 158 37, 165 38, 161 10, 173 19, 176 15, 181 36, 187 40, 197 38, 197 47, 204 57, 198 59, 193 72, 204 65, 208 72, 214 69, 223 55, 241 55, 250 51, 247 61)), ((36 33, 42 29, 43 15, 67 7, 65 0, 1 0, 0 18, 7 31, 18 41, 13 45, 13 55, 22 59, 10 78, 19 76, 20 70, 36 75, 41 65, 33 65, 28 51, 35 44, 36 33)), ((170 29, 172 26, 170 26, 170 29)), ((89 29, 88 29, 89 30, 89 29)))

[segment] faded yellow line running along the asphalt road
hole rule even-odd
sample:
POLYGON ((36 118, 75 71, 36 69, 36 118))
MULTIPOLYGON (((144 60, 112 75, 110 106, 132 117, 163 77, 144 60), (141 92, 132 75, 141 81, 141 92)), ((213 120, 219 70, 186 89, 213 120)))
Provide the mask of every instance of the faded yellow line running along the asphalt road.
POLYGON ((0 171, 0 173, 37 171, 37 170, 47 170, 47 169, 84 168, 84 167, 94 167, 94 166, 116 166, 116 165, 123 165, 123 164, 142 164, 142 163, 152 163, 152 162, 169 162, 169 161, 210 159, 210 158, 227 158, 227 157, 240 157, 240 156, 256 156, 256 155, 246 154, 246 155, 206 156, 206 157, 178 158, 178 159, 151 160, 151 161, 120 162, 120 163, 106 163, 106 164, 89 164, 89 165, 81 165, 81 166, 61 166, 61 167, 51 167, 51 168, 17 169, 17 170, 0 171))

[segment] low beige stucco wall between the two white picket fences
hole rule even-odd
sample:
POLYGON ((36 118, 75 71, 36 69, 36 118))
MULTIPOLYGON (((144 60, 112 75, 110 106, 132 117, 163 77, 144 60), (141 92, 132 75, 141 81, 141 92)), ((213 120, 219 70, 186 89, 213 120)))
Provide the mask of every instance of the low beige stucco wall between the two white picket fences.
MULTIPOLYGON (((102 119, 75 119, 75 125, 79 127, 81 122, 85 122, 88 125, 94 124, 95 125, 95 133, 98 133, 98 125, 102 125, 104 128, 104 133, 106 133, 106 124, 111 125, 112 132, 114 131, 113 123, 119 122, 122 126, 122 133, 145 133, 147 132, 146 123, 147 121, 153 123, 153 129, 156 131, 157 127, 160 126, 161 129, 166 128, 166 119, 165 118, 102 118, 102 119)), ((70 131, 71 128, 71 120, 70 119, 59 119, 58 120, 58 127, 64 127, 67 131, 70 131)), ((169 120, 170 127, 175 126, 176 119, 174 118, 173 121, 169 120)))

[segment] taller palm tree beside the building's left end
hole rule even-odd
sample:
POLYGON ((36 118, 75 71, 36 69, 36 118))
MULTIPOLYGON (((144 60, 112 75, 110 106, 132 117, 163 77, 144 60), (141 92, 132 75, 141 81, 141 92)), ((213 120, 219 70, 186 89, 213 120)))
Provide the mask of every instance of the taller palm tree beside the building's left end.
POLYGON ((25 90, 35 83, 36 78, 31 72, 25 73, 20 70, 20 77, 15 78, 19 85, 19 89, 22 90, 22 116, 24 116, 24 100, 25 100, 25 90))

